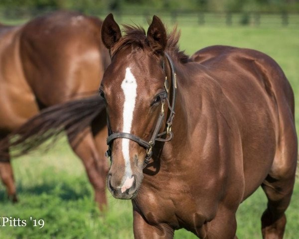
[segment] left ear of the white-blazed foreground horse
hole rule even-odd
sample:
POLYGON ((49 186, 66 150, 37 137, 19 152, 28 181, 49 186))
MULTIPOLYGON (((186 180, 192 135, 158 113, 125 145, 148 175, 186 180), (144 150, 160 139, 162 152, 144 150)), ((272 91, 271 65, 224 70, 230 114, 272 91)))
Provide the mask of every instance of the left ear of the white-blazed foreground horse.
POLYGON ((113 45, 122 37, 121 28, 113 18, 112 13, 106 16, 101 29, 102 41, 104 45, 111 49, 113 45))

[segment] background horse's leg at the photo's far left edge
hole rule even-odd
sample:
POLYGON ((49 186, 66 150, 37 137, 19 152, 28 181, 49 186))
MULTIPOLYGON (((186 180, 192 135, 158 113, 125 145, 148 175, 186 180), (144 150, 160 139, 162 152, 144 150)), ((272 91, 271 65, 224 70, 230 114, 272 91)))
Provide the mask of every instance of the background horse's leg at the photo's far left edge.
MULTIPOLYGON (((0 139, 3 138, 3 137, 4 136, 2 135, 0 137, 0 139)), ((1 181, 3 182, 3 184, 6 187, 8 198, 12 202, 17 202, 13 171, 12 171, 12 167, 11 167, 11 164, 10 164, 10 158, 9 158, 8 150, 6 151, 6 153, 7 153, 7 156, 5 155, 5 158, 1 158, 1 159, 4 159, 5 161, 8 160, 8 161, 4 162, 4 161, 0 160, 0 178, 1 178, 1 181)))

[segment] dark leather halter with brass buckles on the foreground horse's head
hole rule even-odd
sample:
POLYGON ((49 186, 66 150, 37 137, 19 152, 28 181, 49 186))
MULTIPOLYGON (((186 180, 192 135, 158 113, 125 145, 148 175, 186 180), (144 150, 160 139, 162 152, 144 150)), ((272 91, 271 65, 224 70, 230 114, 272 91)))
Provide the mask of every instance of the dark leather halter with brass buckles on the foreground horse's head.
MULTIPOLYGON (((170 58, 170 56, 165 52, 165 56, 169 62, 170 65, 170 69, 171 69, 171 82, 172 82, 172 102, 171 102, 171 106, 169 104, 169 100, 167 98, 167 95, 162 99, 162 106, 161 106, 161 113, 159 114, 159 117, 157 119, 156 122, 156 126, 153 130, 153 134, 148 141, 134 135, 131 133, 125 133, 125 132, 117 132, 117 133, 113 133, 110 129, 110 125, 109 125, 109 120, 108 121, 108 137, 107 137, 107 144, 108 144, 108 150, 107 150, 107 156, 110 158, 111 160, 111 143, 113 142, 114 139, 116 138, 128 138, 130 140, 133 140, 135 142, 137 142, 139 145, 145 147, 147 149, 147 156, 145 158, 145 162, 143 167, 145 168, 147 166, 147 164, 150 161, 150 158, 152 156, 152 147, 155 144, 155 141, 162 141, 162 142, 167 142, 170 141, 171 138, 173 137, 173 133, 171 131, 171 125, 172 125, 172 120, 174 118, 174 104, 175 104, 175 90, 176 90, 176 74, 174 71, 174 66, 172 63, 172 60, 170 58), (166 131, 159 133, 160 128, 162 126, 162 122, 164 121, 164 102, 165 99, 167 101, 168 104, 168 108, 170 110, 170 114, 169 117, 166 121, 167 124, 167 129, 166 131), (162 135, 166 134, 167 137, 166 138, 161 138, 162 135)), ((163 65, 164 66, 164 65, 163 65)), ((168 89, 168 81, 167 81, 167 76, 165 77, 165 83, 164 83, 164 88, 166 90, 166 93, 168 93, 169 89, 168 89)))

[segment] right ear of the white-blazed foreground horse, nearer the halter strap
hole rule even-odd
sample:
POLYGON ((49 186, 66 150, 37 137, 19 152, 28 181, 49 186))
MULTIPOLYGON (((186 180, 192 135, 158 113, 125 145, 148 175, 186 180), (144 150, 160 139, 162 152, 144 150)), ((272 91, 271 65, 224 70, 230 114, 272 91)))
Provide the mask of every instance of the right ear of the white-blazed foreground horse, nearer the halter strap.
POLYGON ((155 15, 152 17, 147 35, 149 45, 154 51, 161 53, 165 50, 167 44, 166 30, 160 18, 155 15))

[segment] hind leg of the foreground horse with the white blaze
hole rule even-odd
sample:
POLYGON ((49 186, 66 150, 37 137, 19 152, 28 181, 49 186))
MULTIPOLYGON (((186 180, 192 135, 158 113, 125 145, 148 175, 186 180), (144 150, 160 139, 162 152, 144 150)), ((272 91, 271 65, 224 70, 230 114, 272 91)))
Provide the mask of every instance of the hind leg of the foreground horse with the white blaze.
POLYGON ((277 149, 271 171, 262 184, 268 198, 268 207, 262 216, 264 239, 282 239, 286 215, 295 183, 297 139, 294 132, 285 135, 277 149))

